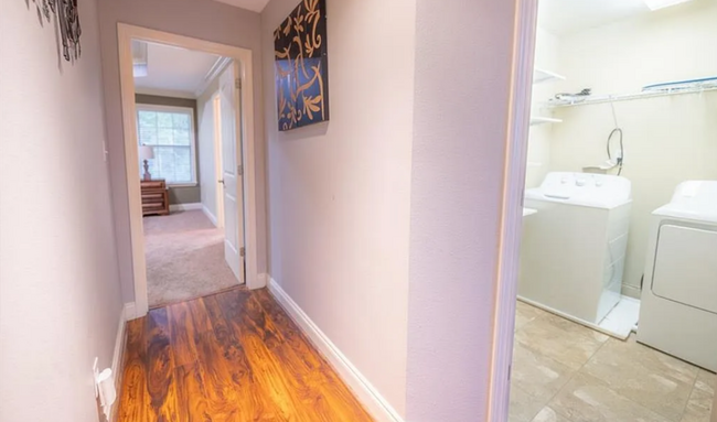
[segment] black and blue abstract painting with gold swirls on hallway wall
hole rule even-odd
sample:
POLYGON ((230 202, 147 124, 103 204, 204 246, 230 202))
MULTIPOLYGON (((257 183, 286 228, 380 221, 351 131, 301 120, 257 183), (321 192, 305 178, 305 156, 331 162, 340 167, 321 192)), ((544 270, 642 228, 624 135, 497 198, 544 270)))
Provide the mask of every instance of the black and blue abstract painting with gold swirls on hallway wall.
POLYGON ((325 0, 302 0, 274 32, 279 130, 329 120, 325 0))

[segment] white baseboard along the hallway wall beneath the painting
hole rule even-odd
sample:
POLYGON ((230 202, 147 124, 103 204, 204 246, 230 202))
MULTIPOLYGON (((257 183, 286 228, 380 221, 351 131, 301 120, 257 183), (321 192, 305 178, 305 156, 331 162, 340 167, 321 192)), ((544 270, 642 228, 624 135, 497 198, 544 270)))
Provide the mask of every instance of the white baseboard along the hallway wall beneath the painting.
POLYGON ((323 354, 341 379, 351 388, 366 410, 378 422, 404 422, 396 410, 381 396, 368 380, 353 366, 353 364, 339 350, 309 316, 293 302, 293 300, 270 277, 269 292, 299 325, 311 343, 323 354))

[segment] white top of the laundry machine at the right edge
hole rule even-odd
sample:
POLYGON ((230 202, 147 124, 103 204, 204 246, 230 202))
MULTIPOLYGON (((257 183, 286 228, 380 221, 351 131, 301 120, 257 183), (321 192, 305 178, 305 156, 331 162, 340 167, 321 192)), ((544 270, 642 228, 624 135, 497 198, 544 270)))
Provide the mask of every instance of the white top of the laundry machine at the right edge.
POLYGON ((696 221, 717 223, 717 181, 683 182, 670 204, 652 213, 696 221))

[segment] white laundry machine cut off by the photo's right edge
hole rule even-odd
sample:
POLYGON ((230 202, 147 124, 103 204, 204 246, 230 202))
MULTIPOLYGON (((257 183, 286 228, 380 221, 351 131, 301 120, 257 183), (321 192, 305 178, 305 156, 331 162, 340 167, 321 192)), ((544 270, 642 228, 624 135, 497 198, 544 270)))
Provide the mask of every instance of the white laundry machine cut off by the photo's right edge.
POLYGON ((638 342, 717 371, 717 181, 682 183, 652 215, 638 342))

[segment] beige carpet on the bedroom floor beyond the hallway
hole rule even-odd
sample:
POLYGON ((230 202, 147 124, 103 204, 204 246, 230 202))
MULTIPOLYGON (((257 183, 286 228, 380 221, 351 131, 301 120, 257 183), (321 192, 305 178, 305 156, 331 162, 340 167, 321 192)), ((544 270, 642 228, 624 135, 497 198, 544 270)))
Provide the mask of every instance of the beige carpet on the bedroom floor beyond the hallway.
POLYGON ((205 296, 238 284, 224 261, 224 234, 201 210, 145 217, 149 305, 205 296))

